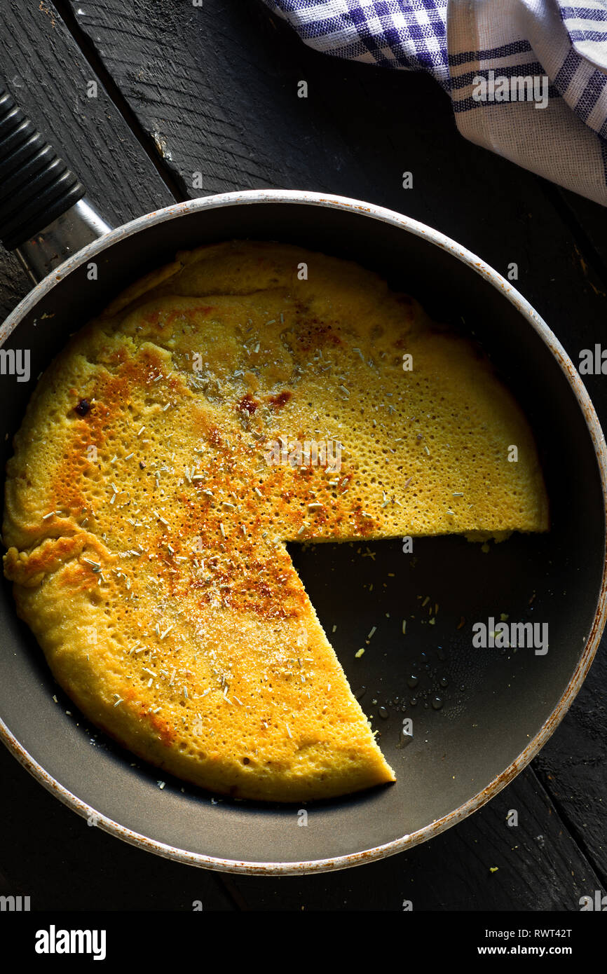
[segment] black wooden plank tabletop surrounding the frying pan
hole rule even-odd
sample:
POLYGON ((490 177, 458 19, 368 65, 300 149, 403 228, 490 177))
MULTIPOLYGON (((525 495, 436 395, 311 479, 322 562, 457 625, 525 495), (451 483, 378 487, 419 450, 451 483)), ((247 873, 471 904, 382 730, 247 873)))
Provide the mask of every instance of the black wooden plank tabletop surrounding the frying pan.
MULTIPOLYGON (((318 55, 257 0, 0 0, 0 12, 0 71, 114 224, 227 190, 357 197, 502 273, 515 262, 574 361, 607 341, 605 211, 464 141, 429 77, 318 55)), ((2 317, 27 290, 0 251, 2 317)), ((607 379, 585 381, 605 425, 607 379)), ((577 911, 607 887, 606 686, 603 645, 548 745, 490 805, 406 854, 301 879, 220 875, 120 843, 2 748, 0 892, 39 910, 400 911, 406 899, 415 911, 577 911)))

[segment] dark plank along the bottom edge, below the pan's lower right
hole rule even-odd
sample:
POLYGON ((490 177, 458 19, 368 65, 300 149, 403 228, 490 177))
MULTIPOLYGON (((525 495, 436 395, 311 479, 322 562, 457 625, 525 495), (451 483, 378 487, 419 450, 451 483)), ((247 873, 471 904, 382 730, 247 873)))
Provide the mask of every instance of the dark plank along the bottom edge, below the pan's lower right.
POLYGON ((363 869, 301 879, 231 879, 256 910, 273 911, 400 912, 410 901, 413 913, 572 912, 580 909, 580 897, 601 888, 530 769, 455 828, 363 869), (515 827, 507 824, 512 809, 515 827))

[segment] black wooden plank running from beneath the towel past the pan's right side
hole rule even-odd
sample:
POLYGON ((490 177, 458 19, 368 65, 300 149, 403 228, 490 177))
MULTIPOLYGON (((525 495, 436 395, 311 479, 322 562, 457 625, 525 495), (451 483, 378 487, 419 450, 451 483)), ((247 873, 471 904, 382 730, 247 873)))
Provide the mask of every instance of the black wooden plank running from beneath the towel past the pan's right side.
MULTIPOLYGON (((190 196, 270 185, 329 190, 405 211, 502 273, 515 262, 517 286, 574 361, 601 339, 604 252, 584 223, 594 205, 578 207, 580 222, 563 203, 567 194, 462 139, 449 99, 429 77, 318 55, 260 4, 190 10, 134 0, 125 11, 119 0, 100 0, 95 8, 71 6, 75 29, 95 45, 190 196), (297 97, 300 80, 308 82, 307 99, 297 97), (191 185, 197 170, 202 189, 191 185), (412 190, 401 188, 405 170, 413 173, 412 190)), ((587 385, 607 423, 604 378, 588 377, 587 385)), ((585 693, 593 697, 603 687, 595 666, 585 693)), ((543 780, 557 807, 564 803, 572 828, 582 828, 584 812, 585 848, 602 870, 607 720, 595 708, 596 731, 588 740, 586 700, 580 698, 545 751, 552 770, 544 773, 542 766, 543 780), (579 752, 581 735, 586 764, 558 760, 561 753, 579 752), (565 802, 578 788, 591 814, 565 802)))

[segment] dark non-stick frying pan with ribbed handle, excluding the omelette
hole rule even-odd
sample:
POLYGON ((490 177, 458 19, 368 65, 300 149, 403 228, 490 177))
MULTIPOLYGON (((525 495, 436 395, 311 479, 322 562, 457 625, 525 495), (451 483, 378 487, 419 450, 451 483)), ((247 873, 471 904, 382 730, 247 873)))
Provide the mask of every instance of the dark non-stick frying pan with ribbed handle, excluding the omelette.
POLYGON ((177 249, 264 239, 356 260, 480 342, 534 430, 551 513, 550 533, 513 535, 488 552, 458 537, 416 539, 412 553, 400 540, 291 545, 397 770, 394 785, 299 809, 215 797, 136 761, 57 687, 4 583, 0 730, 21 764, 91 824, 127 842, 209 869, 268 875, 392 855, 495 796, 562 719, 605 621, 605 444, 588 394, 548 325, 464 247, 356 200, 226 193, 110 231, 8 94, 0 98, 0 178, 0 239, 18 248, 39 281, 0 330, 6 352, 31 355, 29 382, 0 377, 2 468, 33 383, 69 332, 177 249), (474 621, 490 627, 502 614, 547 623, 548 652, 474 648, 474 621), (366 652, 357 658, 360 646, 366 652))

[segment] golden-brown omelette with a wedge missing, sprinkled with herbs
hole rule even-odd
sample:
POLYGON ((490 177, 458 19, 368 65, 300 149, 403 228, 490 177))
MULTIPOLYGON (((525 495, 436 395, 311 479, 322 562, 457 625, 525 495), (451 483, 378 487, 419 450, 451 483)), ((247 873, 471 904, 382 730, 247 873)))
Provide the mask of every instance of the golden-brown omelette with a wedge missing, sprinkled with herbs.
POLYGON ((548 526, 531 431, 471 343, 356 264, 232 242, 135 283, 47 369, 4 566, 95 725, 215 792, 302 802, 395 774, 285 543, 548 526))

